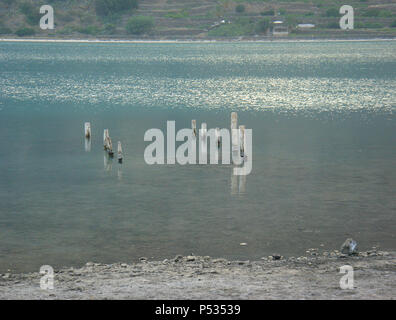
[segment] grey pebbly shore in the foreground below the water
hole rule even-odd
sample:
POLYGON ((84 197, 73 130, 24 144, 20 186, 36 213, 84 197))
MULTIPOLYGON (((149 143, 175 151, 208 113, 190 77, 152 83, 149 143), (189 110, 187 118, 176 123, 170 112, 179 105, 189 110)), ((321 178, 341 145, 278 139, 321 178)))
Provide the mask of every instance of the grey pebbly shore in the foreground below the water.
POLYGON ((41 274, 1 274, 0 299, 394 299, 396 253, 355 255, 335 250, 308 256, 273 255, 259 261, 177 256, 127 264, 88 262, 55 270, 54 289, 41 274), (354 289, 341 289, 340 267, 354 269, 354 289))

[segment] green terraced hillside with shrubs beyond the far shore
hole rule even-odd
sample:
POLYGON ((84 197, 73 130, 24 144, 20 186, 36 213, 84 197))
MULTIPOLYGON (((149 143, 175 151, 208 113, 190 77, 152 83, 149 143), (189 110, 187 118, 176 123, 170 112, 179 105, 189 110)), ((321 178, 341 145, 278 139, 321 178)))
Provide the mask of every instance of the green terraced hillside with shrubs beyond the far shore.
POLYGON ((211 39, 271 35, 274 20, 286 37, 395 37, 390 0, 0 0, 0 37, 211 39), (341 5, 355 10, 355 29, 340 30, 341 5), (39 28, 50 4, 55 29, 39 28), (132 21, 130 21, 132 19, 132 21), (314 24, 302 30, 298 24, 314 24))

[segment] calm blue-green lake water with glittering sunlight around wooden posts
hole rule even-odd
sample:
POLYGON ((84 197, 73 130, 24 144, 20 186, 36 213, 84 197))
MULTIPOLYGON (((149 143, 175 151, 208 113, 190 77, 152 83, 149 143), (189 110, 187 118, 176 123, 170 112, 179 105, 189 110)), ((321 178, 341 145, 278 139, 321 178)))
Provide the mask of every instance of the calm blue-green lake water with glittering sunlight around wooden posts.
POLYGON ((347 237, 394 250, 395 93, 394 41, 0 42, 0 272, 297 256, 347 237), (253 130, 245 179, 145 163, 146 130, 228 128, 232 111, 253 130))

